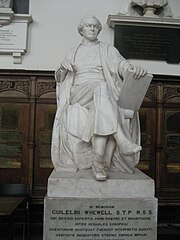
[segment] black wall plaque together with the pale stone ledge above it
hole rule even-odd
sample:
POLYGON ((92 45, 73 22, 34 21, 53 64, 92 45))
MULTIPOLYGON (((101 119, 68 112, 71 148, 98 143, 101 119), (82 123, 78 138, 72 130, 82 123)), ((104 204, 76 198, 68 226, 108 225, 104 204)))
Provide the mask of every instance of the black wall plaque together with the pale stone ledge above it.
POLYGON ((180 62, 180 20, 110 15, 114 45, 128 59, 180 62))

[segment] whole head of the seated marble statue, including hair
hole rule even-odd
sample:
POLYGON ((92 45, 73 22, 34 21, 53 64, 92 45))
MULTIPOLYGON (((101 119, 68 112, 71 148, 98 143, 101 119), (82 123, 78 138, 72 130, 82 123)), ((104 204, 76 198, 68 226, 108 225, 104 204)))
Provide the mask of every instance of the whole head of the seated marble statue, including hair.
POLYGON ((77 28, 81 36, 88 40, 95 40, 102 29, 102 25, 96 17, 86 15, 80 20, 77 28))

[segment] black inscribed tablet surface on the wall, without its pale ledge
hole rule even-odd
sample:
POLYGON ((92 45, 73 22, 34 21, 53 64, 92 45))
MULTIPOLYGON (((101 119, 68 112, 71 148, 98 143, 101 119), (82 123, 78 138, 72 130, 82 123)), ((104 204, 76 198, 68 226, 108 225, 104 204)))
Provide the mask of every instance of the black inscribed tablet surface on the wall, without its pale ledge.
POLYGON ((115 47, 125 58, 180 62, 180 29, 116 26, 115 47))

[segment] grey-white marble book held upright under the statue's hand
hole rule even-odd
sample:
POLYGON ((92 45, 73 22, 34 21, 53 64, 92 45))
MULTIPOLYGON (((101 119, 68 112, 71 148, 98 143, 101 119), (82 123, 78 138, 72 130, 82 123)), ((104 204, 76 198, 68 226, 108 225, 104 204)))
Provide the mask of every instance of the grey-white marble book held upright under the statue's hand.
POLYGON ((152 74, 146 74, 144 77, 136 79, 134 78, 134 73, 128 71, 121 87, 118 105, 124 109, 137 112, 143 102, 152 78, 152 74))

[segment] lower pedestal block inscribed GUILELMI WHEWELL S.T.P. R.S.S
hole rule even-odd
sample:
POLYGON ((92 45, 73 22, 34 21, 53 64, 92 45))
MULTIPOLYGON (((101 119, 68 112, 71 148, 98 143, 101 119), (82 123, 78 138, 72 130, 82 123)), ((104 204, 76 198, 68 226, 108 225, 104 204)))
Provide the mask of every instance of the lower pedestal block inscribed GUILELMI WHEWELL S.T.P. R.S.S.
POLYGON ((157 201, 45 198, 44 240, 155 240, 157 201))

